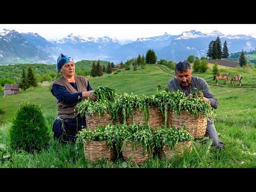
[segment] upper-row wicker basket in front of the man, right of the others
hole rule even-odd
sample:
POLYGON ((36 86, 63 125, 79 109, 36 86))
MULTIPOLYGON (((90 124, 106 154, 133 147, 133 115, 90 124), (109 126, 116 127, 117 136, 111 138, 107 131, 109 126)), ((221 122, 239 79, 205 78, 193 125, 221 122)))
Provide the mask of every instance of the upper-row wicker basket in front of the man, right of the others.
POLYGON ((172 125, 182 129, 185 124, 186 130, 194 138, 202 138, 206 133, 207 118, 202 112, 199 112, 199 115, 200 117, 196 115, 193 117, 190 112, 182 110, 176 118, 173 110, 170 110, 167 116, 167 126, 170 127, 172 125))

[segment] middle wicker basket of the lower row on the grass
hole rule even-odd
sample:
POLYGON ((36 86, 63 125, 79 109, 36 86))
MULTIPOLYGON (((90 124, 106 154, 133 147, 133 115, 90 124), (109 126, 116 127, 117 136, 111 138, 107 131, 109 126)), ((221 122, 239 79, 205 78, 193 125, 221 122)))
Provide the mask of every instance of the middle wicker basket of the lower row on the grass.
POLYGON ((122 150, 122 156, 124 157, 124 160, 126 161, 130 160, 130 162, 136 163, 139 165, 146 162, 146 160, 150 158, 150 152, 145 151, 143 155, 142 154, 143 150, 142 150, 142 147, 140 146, 140 143, 137 142, 137 145, 138 145, 138 149, 137 150, 135 149, 135 144, 134 144, 133 146, 134 148, 132 152, 131 142, 130 141, 126 142, 126 147, 122 150))

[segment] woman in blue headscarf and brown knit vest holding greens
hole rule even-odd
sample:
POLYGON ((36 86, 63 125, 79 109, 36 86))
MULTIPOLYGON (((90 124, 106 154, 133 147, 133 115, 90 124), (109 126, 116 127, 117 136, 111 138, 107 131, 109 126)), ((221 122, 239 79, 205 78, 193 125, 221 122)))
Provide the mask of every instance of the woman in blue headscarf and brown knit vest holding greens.
POLYGON ((84 76, 75 75, 74 60, 69 56, 60 54, 57 59, 57 72, 62 73, 62 77, 53 82, 52 94, 57 98, 58 114, 54 120, 52 131, 54 138, 61 138, 65 142, 74 142, 75 136, 82 126, 86 126, 85 116, 80 116, 75 110, 75 106, 82 99, 90 98, 96 100, 95 94, 92 96, 92 87, 84 76))

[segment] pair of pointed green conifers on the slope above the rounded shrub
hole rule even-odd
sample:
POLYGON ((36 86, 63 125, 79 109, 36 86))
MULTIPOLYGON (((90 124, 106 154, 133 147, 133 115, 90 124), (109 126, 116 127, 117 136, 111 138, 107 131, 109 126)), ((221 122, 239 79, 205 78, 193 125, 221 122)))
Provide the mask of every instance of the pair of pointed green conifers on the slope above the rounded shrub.
POLYGON ((19 88, 23 89, 24 92, 26 89, 31 88, 32 87, 37 87, 38 86, 38 82, 34 76, 34 72, 32 70, 31 66, 28 66, 28 73, 25 74, 25 69, 22 69, 22 78, 21 81, 18 83, 19 88))

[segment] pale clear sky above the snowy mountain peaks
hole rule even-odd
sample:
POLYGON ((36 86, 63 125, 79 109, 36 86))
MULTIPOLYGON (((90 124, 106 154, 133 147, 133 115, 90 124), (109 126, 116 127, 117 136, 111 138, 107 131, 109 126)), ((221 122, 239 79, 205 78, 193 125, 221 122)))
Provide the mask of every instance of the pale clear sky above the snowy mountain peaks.
POLYGON ((256 38, 256 24, 0 24, 2 29, 18 32, 38 33, 46 40, 56 40, 73 33, 85 37, 117 38, 118 40, 136 40, 160 36, 165 32, 172 35, 184 31, 197 30, 208 33, 218 30, 223 34, 246 34, 256 38))

